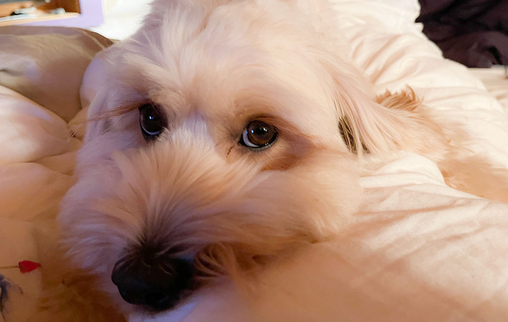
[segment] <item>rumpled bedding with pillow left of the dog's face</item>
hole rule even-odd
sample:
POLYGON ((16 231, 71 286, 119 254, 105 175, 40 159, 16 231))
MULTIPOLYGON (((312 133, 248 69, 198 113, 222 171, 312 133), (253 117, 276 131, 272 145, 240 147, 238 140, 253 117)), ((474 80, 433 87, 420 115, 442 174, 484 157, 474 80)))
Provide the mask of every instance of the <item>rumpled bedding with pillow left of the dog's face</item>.
POLYGON ((80 98, 87 103, 85 69, 109 44, 75 28, 0 28, 0 322, 25 321, 37 307, 42 270, 16 266, 44 267, 55 247, 58 203, 81 145, 68 121, 80 98))

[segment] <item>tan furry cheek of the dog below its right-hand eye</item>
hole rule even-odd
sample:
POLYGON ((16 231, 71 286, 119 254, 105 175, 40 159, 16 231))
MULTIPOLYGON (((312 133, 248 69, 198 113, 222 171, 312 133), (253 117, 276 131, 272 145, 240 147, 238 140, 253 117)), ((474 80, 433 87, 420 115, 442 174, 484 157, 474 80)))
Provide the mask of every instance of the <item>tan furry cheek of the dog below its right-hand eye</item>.
POLYGON ((333 238, 362 201, 357 163, 348 155, 319 153, 288 171, 263 171, 257 179, 243 202, 230 205, 229 218, 207 223, 222 224, 224 236, 198 254, 203 277, 227 273, 241 279, 302 243, 333 238))

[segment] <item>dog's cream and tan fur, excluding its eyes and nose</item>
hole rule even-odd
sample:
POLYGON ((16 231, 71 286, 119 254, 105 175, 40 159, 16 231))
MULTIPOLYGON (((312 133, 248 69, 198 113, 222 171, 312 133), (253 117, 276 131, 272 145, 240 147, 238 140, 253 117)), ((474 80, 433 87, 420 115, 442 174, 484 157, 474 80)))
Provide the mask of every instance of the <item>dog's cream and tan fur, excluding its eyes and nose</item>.
POLYGON ((122 312, 138 308, 120 298, 111 271, 140 243, 195 258, 202 278, 239 277, 332 237, 362 202, 367 153, 422 154, 451 186, 508 200, 501 173, 468 156, 467 136, 438 124, 411 89, 373 94, 341 54, 325 0, 152 7, 132 38, 104 53, 77 183, 58 216, 71 263, 122 312), (152 143, 137 110, 149 101, 169 119, 152 143), (278 128, 273 147, 238 144, 252 119, 278 128))

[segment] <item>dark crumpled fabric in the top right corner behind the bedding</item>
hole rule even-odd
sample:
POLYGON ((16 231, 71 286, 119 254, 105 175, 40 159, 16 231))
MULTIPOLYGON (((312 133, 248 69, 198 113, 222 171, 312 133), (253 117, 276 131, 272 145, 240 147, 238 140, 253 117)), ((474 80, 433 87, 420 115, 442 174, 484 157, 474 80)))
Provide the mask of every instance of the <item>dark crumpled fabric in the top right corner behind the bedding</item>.
POLYGON ((468 67, 508 65, 508 0, 420 0, 417 22, 443 56, 468 67))

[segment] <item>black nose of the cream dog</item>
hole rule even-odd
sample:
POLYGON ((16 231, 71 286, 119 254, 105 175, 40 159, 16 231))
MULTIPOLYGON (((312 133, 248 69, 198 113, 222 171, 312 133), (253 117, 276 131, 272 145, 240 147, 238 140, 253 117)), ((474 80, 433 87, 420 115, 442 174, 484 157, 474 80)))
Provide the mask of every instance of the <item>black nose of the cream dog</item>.
POLYGON ((111 280, 121 297, 156 311, 173 307, 192 279, 192 262, 178 258, 132 255, 118 261, 111 280))

